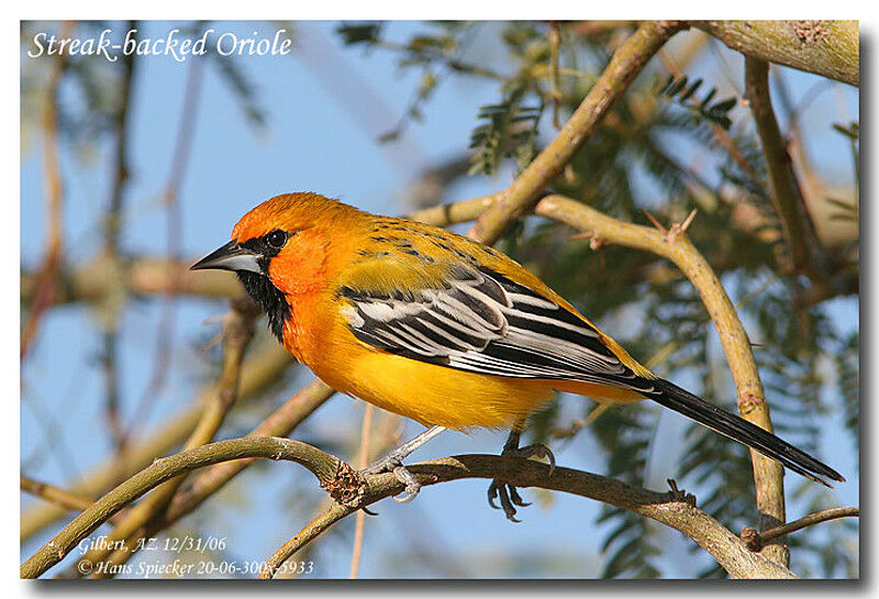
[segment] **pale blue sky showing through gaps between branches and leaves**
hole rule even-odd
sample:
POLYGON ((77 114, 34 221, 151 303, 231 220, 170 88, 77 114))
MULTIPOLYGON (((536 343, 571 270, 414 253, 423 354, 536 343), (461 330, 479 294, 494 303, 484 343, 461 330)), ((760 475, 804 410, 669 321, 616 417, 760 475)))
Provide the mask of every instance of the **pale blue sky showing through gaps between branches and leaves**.
MULTIPOLYGON (((145 34, 164 35, 173 26, 152 22, 146 25, 145 34)), ((254 31, 265 36, 272 33, 269 26, 259 22, 214 26, 238 35, 249 35, 254 31)), ((469 138, 478 107, 492 103, 499 97, 493 84, 452 78, 439 87, 426 106, 423 123, 413 123, 400 144, 379 145, 376 141, 378 135, 392 129, 405 111, 419 75, 401 71, 396 57, 389 53, 364 55, 359 49, 342 48, 333 34, 334 26, 334 23, 321 22, 297 24, 297 52, 292 55, 240 60, 242 70, 258 90, 259 103, 267 109, 268 126, 260 132, 243 118, 238 101, 223 84, 215 67, 207 67, 191 158, 179 196, 183 207, 185 255, 198 257, 224 243, 232 225, 244 212, 280 192, 312 190, 369 211, 407 211, 405 190, 418 173, 442 158, 456 155, 469 138)), ((423 27, 425 25, 396 23, 389 32, 404 38, 410 32, 423 27)), ((116 24, 114 29, 120 30, 121 25, 116 24)), ((486 42, 488 38, 491 36, 474 42, 475 47, 488 56, 502 58, 501 49, 490 47, 486 42)), ((727 59, 734 63, 735 56, 727 55, 727 59)), ((737 70, 736 67, 737 63, 732 68, 737 70)), ((147 57, 141 62, 131 131, 134 141, 132 182, 123 234, 123 248, 133 254, 165 252, 165 215, 159 198, 171 167, 189 68, 189 63, 179 64, 167 57, 147 57)), ((710 68, 710 63, 696 65, 693 75, 698 75, 699 68, 710 68)), ((794 95, 805 92, 816 80, 791 71, 786 71, 786 76, 794 95)), ((69 93, 66 98, 76 101, 69 93)), ((738 110, 738 118, 744 118, 738 110)), ((843 89, 823 93, 804 121, 810 118, 842 121, 839 114, 845 111, 852 114, 852 119, 857 119, 856 91, 843 89)), ((837 177, 846 171, 846 147, 838 135, 823 132, 810 138, 814 142, 811 148, 813 159, 822 174, 837 177)), ((109 149, 107 144, 101 144, 93 149, 91 157, 85 159, 74 155, 70 148, 64 148, 62 154, 65 234, 68 256, 75 264, 84 264, 101 246, 99 219, 109 198, 109 149)), ((22 146, 21 171, 21 252, 25 266, 37 263, 44 244, 42 176, 40 140, 29 138, 22 146)), ((469 178, 453 188, 449 199, 493 192, 508 182, 509 174, 494 178, 469 178)), ((856 302, 838 302, 833 310, 841 326, 857 326, 856 302)), ((188 407, 186 402, 199 382, 193 373, 204 371, 198 347, 218 331, 216 324, 204 324, 204 320, 224 311, 225 307, 220 302, 179 303, 174 367, 156 399, 152 423, 162 422, 188 407)), ((104 430, 100 426, 103 391, 100 374, 93 367, 100 351, 100 334, 93 318, 90 309, 84 306, 54 310, 45 318, 37 345, 22 370, 25 397, 22 404, 22 459, 25 472, 35 478, 60 484, 87 472, 109 450, 108 436, 102 434, 104 430), (47 340, 65 342, 47 343, 47 340), (51 455, 34 453, 35 447, 45 443, 46 435, 54 440, 58 451, 51 455)), ((125 415, 131 414, 133 404, 148 385, 158 318, 159 302, 155 301, 133 302, 124 312, 120 330, 125 415)), ((612 330, 609 332, 614 333, 612 330)), ((302 371, 289 388, 277 391, 278 400, 288 397, 309 377, 302 371)), ((582 400, 566 397, 561 401, 571 417, 580 414, 582 400)), ((359 430, 363 406, 337 397, 293 436, 340 439, 343 433, 359 430)), ((235 431, 246 432, 259 419, 260 414, 245 411, 235 417, 235 431)), ((838 418, 834 415, 828 425, 838 431, 838 418)), ((676 439, 681 429, 681 419, 664 414, 659 429, 664 434, 658 436, 668 433, 669 439, 676 439)), ((419 430, 418 425, 408 423, 405 435, 419 430)), ((827 439, 834 436, 828 434, 827 439)), ((503 439, 501 433, 470 436, 447 433, 414 457, 497 453, 503 439)), ((679 443, 665 445, 654 452, 657 457, 652 463, 649 475, 649 481, 659 490, 664 490, 666 473, 680 448, 679 443)), ((839 504, 857 504, 858 477, 848 447, 841 445, 828 443, 822 447, 823 457, 850 480, 836 490, 839 504)), ((557 450, 556 456, 559 464, 601 472, 603 458, 597 455, 599 451, 590 435, 581 434, 574 443, 557 450)), ((208 508, 222 509, 223 517, 213 519, 219 522, 213 524, 215 532, 229 535, 233 554, 247 559, 265 559, 304 523, 311 508, 291 508, 291 500, 304 498, 302 501, 311 504, 322 497, 307 474, 294 466, 270 464, 267 468, 271 469, 271 476, 248 473, 230 486, 227 496, 246 496, 246 503, 231 499, 208 508), (248 492, 251 485, 259 485, 260 491, 248 492)), ((799 484, 792 475, 786 480, 789 491, 799 484)), ((405 556, 415 546, 411 531, 420 526, 426 535, 422 543, 443 547, 448 555, 457 556, 457 563, 449 568, 460 576, 504 576, 505 568, 523 568, 522 564, 522 573, 536 574, 546 566, 536 556, 555 555, 558 547, 564 547, 568 557, 574 554, 581 559, 567 564, 559 558, 560 570, 545 570, 545 574, 589 577, 600 572, 599 543, 607 530, 594 523, 600 509, 598 503, 555 493, 552 495, 552 509, 541 507, 541 501, 536 501, 534 507, 523 511, 524 521, 513 525, 501 512, 486 506, 485 491, 483 481, 468 480, 426 489, 410 504, 400 506, 389 500, 379 503, 376 510, 381 515, 367 521, 361 575, 435 574, 405 567, 405 556), (508 563, 505 556, 511 553, 521 556, 523 562, 508 563), (481 561, 477 559, 478 554, 481 554, 481 561), (393 564, 382 561, 382 555, 397 556, 397 569, 393 569, 393 564)), ((525 493, 531 497, 539 495, 541 499, 547 496, 530 490, 525 493)), ((31 501, 24 499, 23 506, 31 501)), ((791 513, 795 512, 791 510, 791 513)), ((187 521, 182 525, 187 525, 187 521)), ((351 526, 351 522, 343 525, 351 526)), ((666 561, 670 564, 669 575, 692 575, 708 564, 705 559, 688 554, 688 544, 679 535, 663 534, 668 537, 670 555, 680 557, 666 561)), ((23 553, 30 553, 37 541, 42 543, 45 539, 46 534, 26 543, 23 553)), ((344 540, 321 544, 314 557, 315 576, 347 574, 349 541, 347 535, 344 540)))

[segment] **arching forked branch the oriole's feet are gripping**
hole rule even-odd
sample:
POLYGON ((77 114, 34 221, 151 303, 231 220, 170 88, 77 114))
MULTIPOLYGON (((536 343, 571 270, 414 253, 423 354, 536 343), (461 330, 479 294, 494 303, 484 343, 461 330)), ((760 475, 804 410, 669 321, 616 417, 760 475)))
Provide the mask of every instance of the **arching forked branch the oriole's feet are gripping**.
MULTIPOLYGON (((278 437, 220 441, 157 459, 100 498, 22 565, 22 578, 44 574, 107 519, 149 489, 196 468, 254 457, 296 462, 308 468, 337 501, 344 501, 332 508, 331 511, 338 514, 332 517, 332 522, 360 507, 397 495, 403 487, 392 473, 364 478, 337 457, 298 441, 278 437)), ((516 457, 461 455, 415 464, 409 469, 425 486, 463 478, 499 478, 518 487, 542 487, 588 497, 646 515, 682 532, 711 553, 734 577, 793 577, 787 568, 749 552, 742 540, 706 513, 677 500, 677 493, 658 493, 569 468, 558 467, 549 475, 547 465, 516 457)), ((332 522, 319 517, 309 526, 326 530, 332 522)), ((309 531, 307 528, 303 536, 294 537, 299 539, 296 544, 288 544, 292 550, 290 554, 316 536, 309 531)), ((272 558, 266 574, 277 570, 285 559, 280 555, 272 558)))

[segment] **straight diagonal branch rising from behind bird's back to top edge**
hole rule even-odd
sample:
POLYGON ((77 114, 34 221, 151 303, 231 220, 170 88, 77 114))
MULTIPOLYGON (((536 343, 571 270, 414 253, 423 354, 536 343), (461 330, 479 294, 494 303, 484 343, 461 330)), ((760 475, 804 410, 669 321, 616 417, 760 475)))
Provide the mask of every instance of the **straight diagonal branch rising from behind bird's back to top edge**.
POLYGON ((594 133, 613 103, 625 92, 650 57, 682 27, 682 24, 675 21, 649 21, 642 24, 614 53, 601 77, 556 138, 502 193, 500 201, 479 218, 470 236, 482 243, 494 243, 510 223, 525 213, 594 133))

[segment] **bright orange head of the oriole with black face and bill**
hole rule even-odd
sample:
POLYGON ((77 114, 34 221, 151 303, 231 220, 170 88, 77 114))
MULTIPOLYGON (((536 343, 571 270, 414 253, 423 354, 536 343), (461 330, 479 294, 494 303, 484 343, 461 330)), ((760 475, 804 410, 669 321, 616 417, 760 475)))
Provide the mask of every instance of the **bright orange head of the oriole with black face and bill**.
POLYGON ((234 271, 281 339, 291 310, 288 298, 326 285, 327 259, 337 254, 331 246, 338 246, 363 214, 318 193, 276 196, 247 212, 232 230, 232 241, 191 269, 234 271))

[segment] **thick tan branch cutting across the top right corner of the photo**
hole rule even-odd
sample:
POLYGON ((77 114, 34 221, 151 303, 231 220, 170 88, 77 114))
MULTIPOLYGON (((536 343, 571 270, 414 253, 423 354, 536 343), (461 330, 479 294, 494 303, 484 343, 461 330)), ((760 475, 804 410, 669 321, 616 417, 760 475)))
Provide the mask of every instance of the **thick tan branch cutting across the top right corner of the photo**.
POLYGON ((857 21, 692 21, 746 56, 859 85, 857 21))

